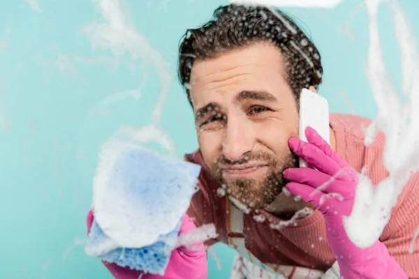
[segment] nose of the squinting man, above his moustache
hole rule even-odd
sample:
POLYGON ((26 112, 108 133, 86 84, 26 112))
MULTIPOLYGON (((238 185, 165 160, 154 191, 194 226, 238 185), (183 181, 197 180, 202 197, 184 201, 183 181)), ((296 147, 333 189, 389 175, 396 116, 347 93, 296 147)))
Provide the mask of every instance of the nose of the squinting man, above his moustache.
POLYGON ((228 160, 242 159, 244 154, 253 150, 255 142, 255 129, 250 121, 240 117, 228 119, 222 149, 228 160))

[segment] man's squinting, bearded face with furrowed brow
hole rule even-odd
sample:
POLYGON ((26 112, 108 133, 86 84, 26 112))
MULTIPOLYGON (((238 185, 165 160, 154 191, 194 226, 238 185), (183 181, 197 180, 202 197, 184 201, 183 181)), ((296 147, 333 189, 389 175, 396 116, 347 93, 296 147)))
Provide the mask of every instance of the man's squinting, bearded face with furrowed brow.
POLYGON ((267 43, 196 61, 191 98, 205 164, 251 209, 270 204, 285 185, 282 172, 296 167, 288 139, 298 135, 298 111, 284 60, 267 43))

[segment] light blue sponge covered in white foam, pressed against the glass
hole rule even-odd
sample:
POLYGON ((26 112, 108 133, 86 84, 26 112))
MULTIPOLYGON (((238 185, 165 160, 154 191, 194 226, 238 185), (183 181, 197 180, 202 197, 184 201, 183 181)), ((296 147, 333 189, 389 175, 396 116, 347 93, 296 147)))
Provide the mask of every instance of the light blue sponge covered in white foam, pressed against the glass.
POLYGON ((199 173, 199 165, 138 144, 105 146, 94 179, 95 220, 87 254, 131 269, 163 273, 199 173))

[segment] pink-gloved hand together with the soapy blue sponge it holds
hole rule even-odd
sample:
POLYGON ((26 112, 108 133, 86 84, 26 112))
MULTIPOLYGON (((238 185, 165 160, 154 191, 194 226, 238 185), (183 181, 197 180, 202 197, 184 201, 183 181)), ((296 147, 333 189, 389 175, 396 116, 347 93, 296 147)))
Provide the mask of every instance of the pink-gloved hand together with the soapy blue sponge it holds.
POLYGON ((138 144, 103 146, 87 255, 100 257, 117 279, 207 278, 203 241, 216 236, 215 227, 197 229, 186 215, 199 173, 199 165, 138 144))

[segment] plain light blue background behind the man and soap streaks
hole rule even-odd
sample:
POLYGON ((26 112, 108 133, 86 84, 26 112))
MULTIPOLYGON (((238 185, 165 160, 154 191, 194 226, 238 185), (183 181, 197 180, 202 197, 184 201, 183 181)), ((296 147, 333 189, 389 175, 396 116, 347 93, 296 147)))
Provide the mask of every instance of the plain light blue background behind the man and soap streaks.
MULTIPOLYGON (((159 77, 151 64, 142 68, 141 58, 124 53, 117 61, 112 51, 92 48, 83 30, 104 20, 98 2, 38 0, 41 12, 29 3, 0 3, 0 278, 110 278, 82 246, 98 147, 122 124, 151 121, 159 77), (138 100, 122 95, 104 103, 115 93, 137 89, 145 70, 148 77, 138 100)), ((223 3, 121 4, 124 16, 168 62, 172 82, 161 128, 175 141, 179 156, 198 147, 191 108, 176 80, 179 38, 223 3)), ((401 3, 419 34, 419 1, 401 3)), ((346 0, 334 10, 286 10, 321 51, 325 80, 320 93, 331 110, 374 117, 364 71, 368 17, 360 5, 346 0)), ((385 6, 380 28, 388 68, 399 87, 399 49, 385 6)), ((209 278, 227 278, 233 254, 217 245, 222 269, 210 256, 209 278)))

